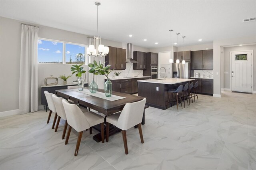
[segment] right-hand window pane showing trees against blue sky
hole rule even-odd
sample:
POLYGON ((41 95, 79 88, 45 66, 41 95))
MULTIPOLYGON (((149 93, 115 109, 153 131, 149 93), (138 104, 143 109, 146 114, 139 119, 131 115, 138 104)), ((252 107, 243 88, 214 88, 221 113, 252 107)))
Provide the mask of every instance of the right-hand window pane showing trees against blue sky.
POLYGON ((66 43, 66 64, 84 64, 85 45, 66 43))

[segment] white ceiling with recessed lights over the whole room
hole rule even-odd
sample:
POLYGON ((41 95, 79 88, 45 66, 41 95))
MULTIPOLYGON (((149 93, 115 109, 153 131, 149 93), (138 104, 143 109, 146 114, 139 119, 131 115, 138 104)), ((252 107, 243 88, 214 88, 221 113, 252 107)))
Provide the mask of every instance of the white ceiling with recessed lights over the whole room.
MULTIPOLYGON (((96 0, 1 0, 0 15, 71 32, 97 34, 96 0)), ((256 1, 100 0, 99 36, 141 47, 212 43, 214 40, 256 36, 256 1), (133 35, 132 38, 129 35, 133 35), (143 41, 147 39, 147 41, 143 41), (202 39, 201 42, 198 39, 202 39), (158 42, 156 45, 155 42, 158 42)))

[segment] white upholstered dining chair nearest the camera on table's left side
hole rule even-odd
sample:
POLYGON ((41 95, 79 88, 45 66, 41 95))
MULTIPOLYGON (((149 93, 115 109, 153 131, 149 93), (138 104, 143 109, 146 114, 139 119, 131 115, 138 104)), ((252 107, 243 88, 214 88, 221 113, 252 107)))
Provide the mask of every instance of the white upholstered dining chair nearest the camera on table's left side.
MULTIPOLYGON (((70 104, 65 99, 62 100, 62 104, 65 110, 66 118, 69 125, 65 144, 68 144, 68 138, 70 136, 70 132, 72 128, 74 128, 77 132, 79 132, 77 143, 76 143, 75 154, 74 154, 75 156, 78 154, 83 131, 90 127, 101 124, 101 138, 102 138, 102 143, 104 143, 104 117, 92 111, 83 113, 77 105, 70 104)), ((91 134, 91 131, 90 131, 90 134, 91 134)))

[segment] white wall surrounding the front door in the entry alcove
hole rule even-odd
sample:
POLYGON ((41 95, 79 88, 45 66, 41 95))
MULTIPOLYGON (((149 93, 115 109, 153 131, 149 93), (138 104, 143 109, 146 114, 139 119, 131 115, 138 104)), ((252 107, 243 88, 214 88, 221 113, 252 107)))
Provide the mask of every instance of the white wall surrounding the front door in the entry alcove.
POLYGON ((224 69, 223 69, 223 78, 224 85, 222 88, 230 89, 230 52, 231 51, 245 51, 245 50, 253 50, 253 90, 256 91, 256 45, 243 45, 237 47, 224 47, 224 69), (228 72, 228 74, 224 74, 228 72))

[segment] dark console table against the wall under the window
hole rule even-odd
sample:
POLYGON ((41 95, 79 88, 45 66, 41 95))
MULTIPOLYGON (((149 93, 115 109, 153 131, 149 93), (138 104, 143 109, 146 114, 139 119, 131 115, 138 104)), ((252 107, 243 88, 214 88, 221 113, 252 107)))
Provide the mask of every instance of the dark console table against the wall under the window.
MULTIPOLYGON (((55 94, 55 90, 61 90, 61 89, 68 89, 68 86, 77 86, 77 84, 74 83, 68 83, 66 85, 60 84, 60 85, 42 85, 41 86, 41 104, 44 105, 44 109, 48 108, 48 103, 46 100, 46 97, 44 95, 44 91, 48 91, 49 93, 55 94)), ((84 87, 87 87, 88 83, 84 83, 84 87)))

